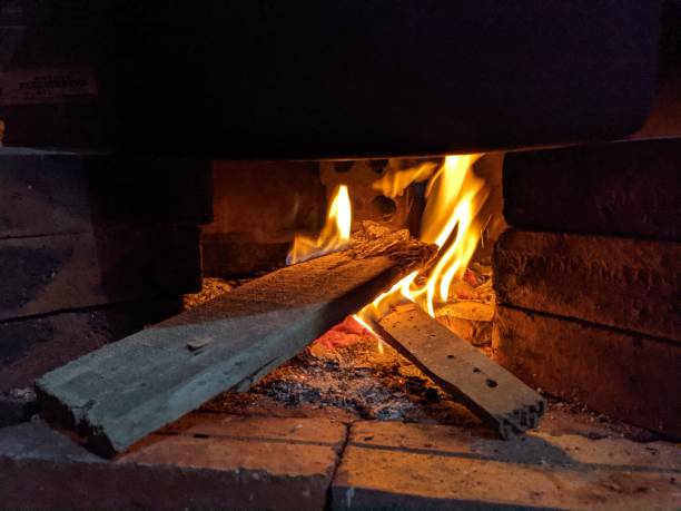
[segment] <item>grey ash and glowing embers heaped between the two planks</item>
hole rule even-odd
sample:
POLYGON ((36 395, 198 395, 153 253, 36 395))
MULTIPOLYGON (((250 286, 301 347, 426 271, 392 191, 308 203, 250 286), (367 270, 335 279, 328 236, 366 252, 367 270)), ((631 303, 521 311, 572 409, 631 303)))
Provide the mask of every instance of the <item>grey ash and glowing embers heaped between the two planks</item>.
MULTIPOLYGON (((348 346, 312 347, 250 390, 286 406, 333 406, 361 419, 431 422, 455 411, 477 422, 427 376, 373 337, 348 346)), ((445 421, 451 422, 451 421, 445 421)))

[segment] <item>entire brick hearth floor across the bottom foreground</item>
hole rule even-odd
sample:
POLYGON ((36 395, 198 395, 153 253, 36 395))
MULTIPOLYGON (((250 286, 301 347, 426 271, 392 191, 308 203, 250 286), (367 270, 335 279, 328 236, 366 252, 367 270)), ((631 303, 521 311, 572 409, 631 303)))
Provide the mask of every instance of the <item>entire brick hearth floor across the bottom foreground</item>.
POLYGON ((550 413, 480 429, 194 413, 102 460, 41 420, 0 430, 0 509, 679 509, 681 450, 550 413), (559 416, 559 419, 556 419, 559 416))

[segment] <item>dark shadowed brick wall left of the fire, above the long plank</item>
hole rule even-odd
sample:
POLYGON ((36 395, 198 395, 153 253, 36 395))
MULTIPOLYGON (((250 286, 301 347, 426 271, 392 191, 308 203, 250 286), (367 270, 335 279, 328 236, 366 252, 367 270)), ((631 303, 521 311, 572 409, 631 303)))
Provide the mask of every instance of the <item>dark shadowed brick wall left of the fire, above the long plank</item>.
POLYGON ((0 149, 4 422, 26 413, 33 379, 200 289, 211 186, 207 161, 0 149))

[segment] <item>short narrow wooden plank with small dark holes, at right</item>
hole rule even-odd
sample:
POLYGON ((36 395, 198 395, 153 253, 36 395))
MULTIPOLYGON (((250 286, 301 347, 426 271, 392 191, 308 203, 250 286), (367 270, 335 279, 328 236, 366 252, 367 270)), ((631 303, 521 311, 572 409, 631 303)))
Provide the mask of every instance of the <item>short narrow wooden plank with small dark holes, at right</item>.
POLYGON ((378 334, 507 439, 535 428, 544 399, 416 306, 377 324, 378 334))

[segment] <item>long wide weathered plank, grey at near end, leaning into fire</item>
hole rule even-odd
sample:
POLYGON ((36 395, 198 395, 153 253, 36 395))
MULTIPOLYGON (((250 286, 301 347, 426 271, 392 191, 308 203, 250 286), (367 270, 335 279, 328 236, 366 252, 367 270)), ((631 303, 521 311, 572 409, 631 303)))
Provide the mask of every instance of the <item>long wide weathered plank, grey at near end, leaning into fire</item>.
POLYGON ((120 452, 220 392, 248 389, 432 256, 407 244, 391 256, 366 244, 268 274, 46 374, 40 401, 93 449, 120 452))

